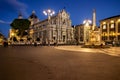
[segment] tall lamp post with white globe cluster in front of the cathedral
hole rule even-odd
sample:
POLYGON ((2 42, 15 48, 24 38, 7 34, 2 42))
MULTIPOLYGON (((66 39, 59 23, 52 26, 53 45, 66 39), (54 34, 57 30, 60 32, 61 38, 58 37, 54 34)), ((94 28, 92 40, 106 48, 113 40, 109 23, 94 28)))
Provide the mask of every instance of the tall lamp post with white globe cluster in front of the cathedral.
POLYGON ((47 10, 44 10, 44 11, 43 11, 43 14, 44 14, 45 16, 48 16, 48 26, 47 26, 47 32, 48 32, 48 34, 47 34, 47 41, 48 41, 48 46, 50 46, 50 25, 51 25, 50 20, 51 20, 51 16, 54 15, 55 12, 54 12, 53 10, 51 10, 51 9, 47 9, 47 10))

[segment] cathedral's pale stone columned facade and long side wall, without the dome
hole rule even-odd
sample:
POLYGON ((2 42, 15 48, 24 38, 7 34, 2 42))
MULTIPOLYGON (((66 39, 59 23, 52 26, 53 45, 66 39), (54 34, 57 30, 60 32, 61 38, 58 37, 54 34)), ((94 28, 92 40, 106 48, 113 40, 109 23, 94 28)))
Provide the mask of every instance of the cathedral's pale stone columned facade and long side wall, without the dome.
POLYGON ((66 44, 73 39, 73 28, 69 14, 63 9, 50 19, 33 24, 33 38, 43 44, 66 44))

